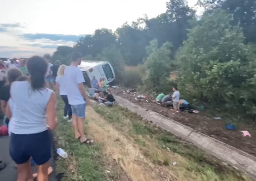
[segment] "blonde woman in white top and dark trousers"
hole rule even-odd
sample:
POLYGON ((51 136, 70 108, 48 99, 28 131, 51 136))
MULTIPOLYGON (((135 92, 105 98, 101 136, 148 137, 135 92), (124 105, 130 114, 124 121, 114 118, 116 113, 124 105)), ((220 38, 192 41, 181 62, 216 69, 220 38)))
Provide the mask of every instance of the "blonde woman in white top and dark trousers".
POLYGON ((60 97, 65 103, 64 107, 64 119, 68 118, 68 122, 71 122, 72 118, 72 110, 70 104, 68 104, 68 97, 66 92, 66 81, 64 79, 64 70, 66 69, 66 65, 60 65, 57 77, 56 77, 56 91, 60 94, 60 97))

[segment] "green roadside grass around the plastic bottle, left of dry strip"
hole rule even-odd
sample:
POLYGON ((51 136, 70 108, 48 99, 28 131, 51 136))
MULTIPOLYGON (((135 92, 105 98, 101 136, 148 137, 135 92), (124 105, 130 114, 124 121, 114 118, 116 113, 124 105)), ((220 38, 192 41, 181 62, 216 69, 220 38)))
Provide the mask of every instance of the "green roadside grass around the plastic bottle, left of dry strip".
MULTIPOLYGON (((74 139, 72 124, 63 119, 63 101, 58 98, 58 127, 55 131, 57 148, 68 153, 68 158, 57 160, 57 173, 63 173, 62 181, 106 181, 101 145, 87 146, 74 139)), ((85 130, 86 131, 86 130, 85 130)))

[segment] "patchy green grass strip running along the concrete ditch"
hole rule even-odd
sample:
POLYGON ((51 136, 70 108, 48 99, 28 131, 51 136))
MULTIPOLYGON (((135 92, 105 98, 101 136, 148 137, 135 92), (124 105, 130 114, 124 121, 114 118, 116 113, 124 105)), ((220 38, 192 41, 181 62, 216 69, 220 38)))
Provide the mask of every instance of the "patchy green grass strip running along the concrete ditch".
MULTIPOLYGON (((185 157, 188 160, 185 166, 186 169, 200 174, 203 181, 250 180, 249 177, 242 175, 232 167, 223 165, 220 160, 207 155, 195 146, 183 143, 171 133, 149 125, 140 116, 125 108, 118 105, 114 107, 93 105, 93 108, 119 131, 129 129, 128 133, 138 145, 146 146, 146 142, 141 139, 141 136, 150 137, 159 147, 185 157), (130 124, 127 124, 127 119, 130 120, 130 124)), ((158 155, 151 155, 148 151, 145 151, 144 156, 150 158, 152 163, 169 166, 168 160, 160 161, 158 155)))

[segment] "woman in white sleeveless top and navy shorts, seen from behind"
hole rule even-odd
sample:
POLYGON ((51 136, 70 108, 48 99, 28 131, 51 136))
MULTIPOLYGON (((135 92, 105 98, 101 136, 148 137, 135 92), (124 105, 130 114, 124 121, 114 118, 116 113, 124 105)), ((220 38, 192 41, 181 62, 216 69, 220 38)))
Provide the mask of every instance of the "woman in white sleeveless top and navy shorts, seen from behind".
POLYGON ((48 181, 51 135, 57 126, 55 93, 44 87, 46 61, 33 56, 27 63, 30 81, 15 81, 11 86, 13 101, 10 155, 17 164, 18 180, 33 180, 29 159, 37 166, 37 180, 48 181))

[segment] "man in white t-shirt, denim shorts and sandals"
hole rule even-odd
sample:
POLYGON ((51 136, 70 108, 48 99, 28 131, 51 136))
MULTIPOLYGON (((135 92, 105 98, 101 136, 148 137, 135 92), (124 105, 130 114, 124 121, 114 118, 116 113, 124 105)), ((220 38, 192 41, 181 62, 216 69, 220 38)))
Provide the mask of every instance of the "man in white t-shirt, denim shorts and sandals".
POLYGON ((80 138, 81 143, 90 144, 93 140, 86 138, 84 134, 84 120, 86 102, 89 99, 84 89, 83 72, 77 68, 81 64, 82 55, 78 52, 72 54, 72 63, 65 69, 64 76, 66 81, 66 92, 68 103, 72 109, 72 124, 75 132, 75 138, 80 138))

